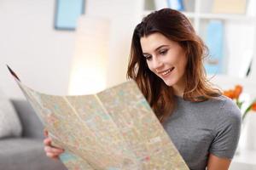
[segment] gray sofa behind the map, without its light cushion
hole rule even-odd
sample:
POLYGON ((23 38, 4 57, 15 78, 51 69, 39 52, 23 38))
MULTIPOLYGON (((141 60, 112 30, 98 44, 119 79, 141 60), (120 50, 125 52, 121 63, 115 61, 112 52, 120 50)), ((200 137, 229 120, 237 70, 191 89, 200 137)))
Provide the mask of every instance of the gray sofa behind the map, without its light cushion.
POLYGON ((67 170, 45 156, 43 125, 26 100, 12 100, 22 124, 21 138, 0 139, 2 170, 67 170))

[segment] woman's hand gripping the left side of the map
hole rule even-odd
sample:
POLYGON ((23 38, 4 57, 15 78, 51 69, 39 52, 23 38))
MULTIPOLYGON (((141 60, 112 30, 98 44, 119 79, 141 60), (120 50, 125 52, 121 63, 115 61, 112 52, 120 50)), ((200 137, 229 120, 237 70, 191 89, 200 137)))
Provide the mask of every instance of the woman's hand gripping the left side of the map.
POLYGON ((51 139, 48 136, 47 130, 44 130, 44 136, 44 151, 46 153, 46 156, 52 159, 59 159, 59 156, 61 155, 61 153, 64 152, 64 150, 51 145, 51 139))

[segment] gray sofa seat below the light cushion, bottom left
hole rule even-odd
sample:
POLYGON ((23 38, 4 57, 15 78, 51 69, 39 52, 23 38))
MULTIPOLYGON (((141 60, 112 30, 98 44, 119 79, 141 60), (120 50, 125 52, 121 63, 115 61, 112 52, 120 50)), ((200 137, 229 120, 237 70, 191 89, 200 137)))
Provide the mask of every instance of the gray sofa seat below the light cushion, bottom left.
POLYGON ((0 169, 4 170, 67 170, 61 161, 45 156, 40 139, 0 139, 0 169))

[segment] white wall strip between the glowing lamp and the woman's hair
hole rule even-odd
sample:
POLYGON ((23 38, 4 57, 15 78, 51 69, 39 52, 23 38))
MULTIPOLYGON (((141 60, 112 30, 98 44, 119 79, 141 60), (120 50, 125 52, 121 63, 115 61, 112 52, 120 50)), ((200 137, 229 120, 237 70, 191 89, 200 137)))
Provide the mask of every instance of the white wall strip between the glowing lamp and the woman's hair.
POLYGON ((126 80, 131 36, 142 19, 143 0, 88 0, 88 15, 106 17, 111 21, 110 54, 108 61, 107 86, 126 80))

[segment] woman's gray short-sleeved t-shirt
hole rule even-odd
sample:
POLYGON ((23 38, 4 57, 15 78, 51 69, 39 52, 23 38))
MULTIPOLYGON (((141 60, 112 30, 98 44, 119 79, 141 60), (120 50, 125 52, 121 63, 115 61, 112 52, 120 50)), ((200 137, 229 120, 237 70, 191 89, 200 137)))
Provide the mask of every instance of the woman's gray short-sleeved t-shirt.
POLYGON ((224 96, 204 102, 176 99, 177 107, 164 128, 189 168, 206 169, 209 153, 232 159, 241 127, 236 104, 224 96))

